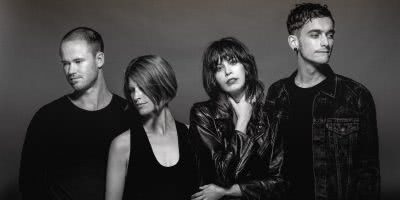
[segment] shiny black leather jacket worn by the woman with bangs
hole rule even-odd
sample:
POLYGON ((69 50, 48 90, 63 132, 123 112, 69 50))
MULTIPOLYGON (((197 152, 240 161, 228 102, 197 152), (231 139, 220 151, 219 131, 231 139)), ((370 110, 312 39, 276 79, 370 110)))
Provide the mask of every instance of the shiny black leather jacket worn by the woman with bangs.
POLYGON ((189 134, 197 152, 200 184, 225 188, 238 184, 240 199, 281 198, 286 188, 281 175, 283 143, 266 119, 251 119, 244 134, 214 102, 194 104, 189 134))

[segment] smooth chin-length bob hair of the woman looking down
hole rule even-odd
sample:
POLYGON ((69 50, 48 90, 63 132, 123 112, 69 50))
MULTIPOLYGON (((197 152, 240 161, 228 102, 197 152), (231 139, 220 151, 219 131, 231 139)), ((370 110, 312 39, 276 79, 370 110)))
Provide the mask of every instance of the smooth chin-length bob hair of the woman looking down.
POLYGON ((176 96, 178 85, 175 73, 171 65, 160 56, 140 56, 128 64, 124 77, 124 94, 130 106, 133 107, 129 88, 130 80, 135 81, 142 92, 150 98, 157 111, 176 96))

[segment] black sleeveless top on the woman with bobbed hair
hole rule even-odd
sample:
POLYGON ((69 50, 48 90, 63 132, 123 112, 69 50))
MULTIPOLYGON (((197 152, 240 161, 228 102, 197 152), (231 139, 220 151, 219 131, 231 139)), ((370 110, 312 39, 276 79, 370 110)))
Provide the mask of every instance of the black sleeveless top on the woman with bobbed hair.
POLYGON ((125 177, 124 200, 190 199, 197 191, 195 158, 189 145, 188 128, 175 121, 179 160, 162 166, 153 154, 149 139, 140 125, 131 127, 131 151, 125 177))

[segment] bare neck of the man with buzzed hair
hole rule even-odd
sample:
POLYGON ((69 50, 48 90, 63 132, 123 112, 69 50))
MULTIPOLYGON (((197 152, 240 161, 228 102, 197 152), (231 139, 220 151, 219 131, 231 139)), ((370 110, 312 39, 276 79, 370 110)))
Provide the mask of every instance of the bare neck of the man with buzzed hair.
POLYGON ((69 98, 79 108, 94 111, 106 107, 112 99, 112 94, 108 90, 100 71, 93 86, 83 91, 75 90, 69 95, 69 98))

